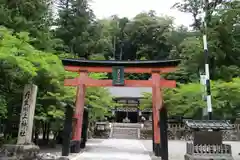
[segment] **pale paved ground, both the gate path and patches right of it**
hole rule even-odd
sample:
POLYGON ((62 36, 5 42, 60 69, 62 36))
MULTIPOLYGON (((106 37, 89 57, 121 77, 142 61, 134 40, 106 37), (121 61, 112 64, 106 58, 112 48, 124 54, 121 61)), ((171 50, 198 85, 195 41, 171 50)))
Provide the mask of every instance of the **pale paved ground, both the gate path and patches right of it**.
MULTIPOLYGON (((224 142, 232 145, 234 160, 240 160, 240 142, 224 142)), ((169 160, 184 160, 186 142, 169 141, 169 160)), ((151 160, 152 141, 132 139, 90 139, 86 151, 73 160, 151 160)))

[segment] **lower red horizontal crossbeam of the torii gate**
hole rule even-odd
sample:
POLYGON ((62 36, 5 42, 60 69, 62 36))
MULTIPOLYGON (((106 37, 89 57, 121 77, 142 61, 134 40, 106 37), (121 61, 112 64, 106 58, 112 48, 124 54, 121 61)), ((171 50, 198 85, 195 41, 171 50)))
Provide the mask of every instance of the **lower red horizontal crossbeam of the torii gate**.
MULTIPOLYGON (((74 79, 65 79, 65 86, 78 86, 80 83, 85 84, 87 87, 109 87, 112 86, 112 80, 95 80, 88 78, 80 81, 80 77, 74 79)), ((175 88, 176 81, 161 79, 159 85, 166 88, 175 88)), ((152 87, 152 80, 125 80, 124 86, 119 87, 152 87)))

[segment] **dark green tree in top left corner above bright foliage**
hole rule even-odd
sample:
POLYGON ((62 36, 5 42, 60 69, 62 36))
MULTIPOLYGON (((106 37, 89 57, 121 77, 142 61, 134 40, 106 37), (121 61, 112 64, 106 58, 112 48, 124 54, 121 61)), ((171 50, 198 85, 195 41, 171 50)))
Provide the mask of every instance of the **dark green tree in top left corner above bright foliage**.
POLYGON ((51 0, 2 0, 0 5, 0 25, 16 33, 29 32, 29 43, 37 49, 52 51, 58 41, 50 31, 53 25, 51 0))

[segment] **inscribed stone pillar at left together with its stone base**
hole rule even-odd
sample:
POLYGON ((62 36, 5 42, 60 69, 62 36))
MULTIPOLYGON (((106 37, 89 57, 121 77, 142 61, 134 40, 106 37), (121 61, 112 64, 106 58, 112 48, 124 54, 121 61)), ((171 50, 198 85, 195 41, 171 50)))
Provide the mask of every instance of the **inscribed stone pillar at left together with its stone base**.
POLYGON ((35 159, 39 147, 32 143, 32 130, 37 97, 37 86, 27 84, 24 87, 22 110, 20 115, 17 144, 3 146, 5 156, 9 159, 35 159))

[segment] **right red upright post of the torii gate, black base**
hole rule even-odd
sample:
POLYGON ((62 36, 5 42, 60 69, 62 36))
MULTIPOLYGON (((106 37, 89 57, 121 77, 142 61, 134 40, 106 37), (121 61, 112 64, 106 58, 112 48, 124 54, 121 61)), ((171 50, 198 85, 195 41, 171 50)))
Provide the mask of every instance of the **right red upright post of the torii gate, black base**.
POLYGON ((160 75, 152 73, 152 105, 153 105, 153 131, 154 131, 154 152, 155 156, 160 156, 160 128, 159 128, 159 110, 162 108, 162 95, 160 90, 160 75))

